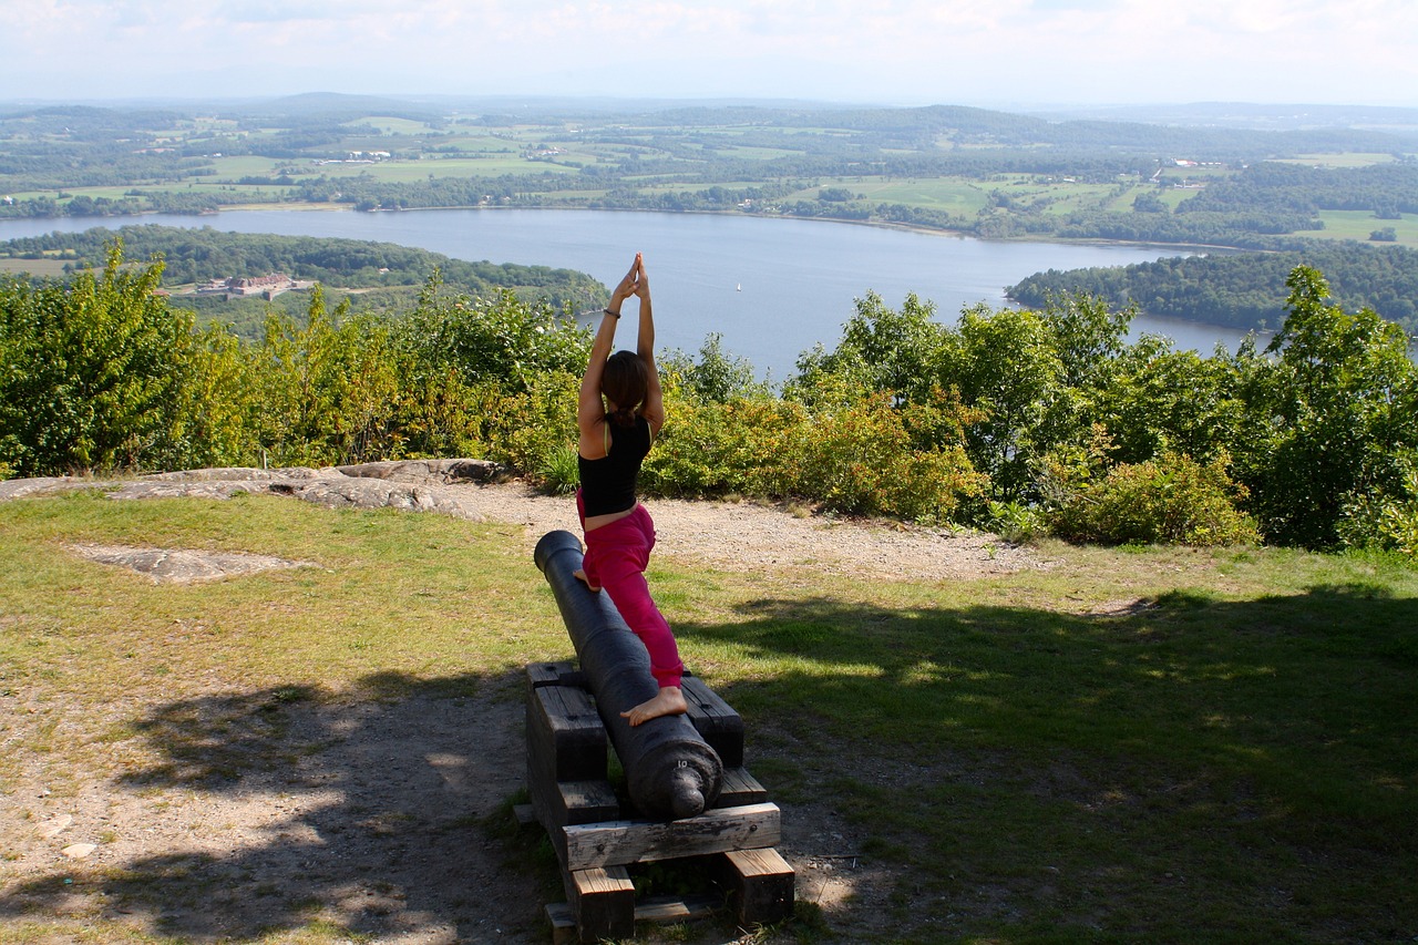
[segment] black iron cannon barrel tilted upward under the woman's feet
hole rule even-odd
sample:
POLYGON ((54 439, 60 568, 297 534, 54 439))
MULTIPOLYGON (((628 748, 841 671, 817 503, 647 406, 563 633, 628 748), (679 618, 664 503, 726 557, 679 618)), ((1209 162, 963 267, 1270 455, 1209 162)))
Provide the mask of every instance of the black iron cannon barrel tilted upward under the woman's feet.
POLYGON ((533 558, 552 586, 601 722, 625 769, 631 802, 648 817, 702 813, 719 796, 723 762, 685 715, 662 715, 635 726, 621 718, 654 698, 659 685, 649 674, 645 646, 610 595, 593 593, 576 579, 580 539, 566 531, 547 532, 533 558))

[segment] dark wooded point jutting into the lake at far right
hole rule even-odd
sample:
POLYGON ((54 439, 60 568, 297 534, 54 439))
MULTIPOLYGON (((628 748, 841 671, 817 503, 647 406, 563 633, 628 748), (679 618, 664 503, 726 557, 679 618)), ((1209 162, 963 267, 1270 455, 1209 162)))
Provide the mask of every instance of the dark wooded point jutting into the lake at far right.
POLYGON ((1109 305, 1136 304, 1159 318, 1278 328, 1286 315, 1285 280, 1297 265, 1323 271, 1334 301, 1371 308, 1418 332, 1418 251, 1395 245, 1312 241, 1305 250, 1171 257, 1127 267, 1037 272, 1008 297, 1042 308, 1051 295, 1088 292, 1109 305))

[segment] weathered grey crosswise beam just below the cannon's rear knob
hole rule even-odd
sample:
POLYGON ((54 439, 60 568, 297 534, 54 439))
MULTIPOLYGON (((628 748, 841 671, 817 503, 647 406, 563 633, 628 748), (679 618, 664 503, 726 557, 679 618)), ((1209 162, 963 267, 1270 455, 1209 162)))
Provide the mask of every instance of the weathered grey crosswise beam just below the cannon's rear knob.
POLYGON ((777 805, 746 805, 706 810, 698 817, 671 820, 611 820, 571 824, 566 839, 566 867, 590 867, 675 860, 679 857, 771 847, 781 839, 777 805))

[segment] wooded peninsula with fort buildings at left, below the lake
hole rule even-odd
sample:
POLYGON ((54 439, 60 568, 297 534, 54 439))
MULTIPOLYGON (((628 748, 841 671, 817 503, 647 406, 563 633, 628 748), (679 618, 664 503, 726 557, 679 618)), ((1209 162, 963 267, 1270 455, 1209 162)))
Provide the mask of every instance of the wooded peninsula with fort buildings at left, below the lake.
POLYGON ((605 288, 583 272, 546 265, 468 262, 394 243, 288 237, 269 233, 221 233, 211 227, 187 230, 156 224, 84 233, 51 233, 0 243, 0 255, 40 258, 61 254, 74 268, 102 267, 109 247, 122 240, 129 258, 163 258, 163 284, 204 284, 210 280, 284 272, 295 280, 336 288, 420 287, 437 270, 452 289, 474 297, 510 289, 562 309, 590 308, 605 288))

